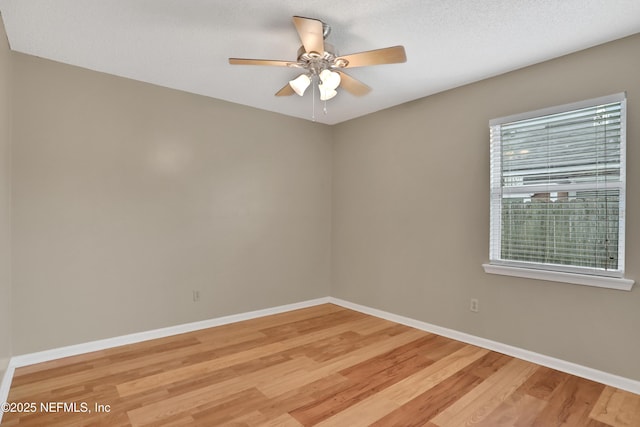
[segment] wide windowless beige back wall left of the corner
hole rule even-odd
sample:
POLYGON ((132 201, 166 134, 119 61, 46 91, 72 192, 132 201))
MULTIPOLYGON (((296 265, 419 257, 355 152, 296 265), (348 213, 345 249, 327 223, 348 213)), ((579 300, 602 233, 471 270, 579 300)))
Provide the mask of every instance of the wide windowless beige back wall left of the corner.
POLYGON ((329 127, 13 55, 15 354, 328 294, 329 127))

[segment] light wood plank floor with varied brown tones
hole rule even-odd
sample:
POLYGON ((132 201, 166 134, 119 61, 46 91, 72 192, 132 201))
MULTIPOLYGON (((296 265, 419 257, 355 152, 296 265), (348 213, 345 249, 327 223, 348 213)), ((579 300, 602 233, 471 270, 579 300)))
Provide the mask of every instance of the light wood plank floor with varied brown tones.
POLYGON ((2 426, 640 426, 638 395, 330 304, 20 368, 9 402, 38 408, 2 426))

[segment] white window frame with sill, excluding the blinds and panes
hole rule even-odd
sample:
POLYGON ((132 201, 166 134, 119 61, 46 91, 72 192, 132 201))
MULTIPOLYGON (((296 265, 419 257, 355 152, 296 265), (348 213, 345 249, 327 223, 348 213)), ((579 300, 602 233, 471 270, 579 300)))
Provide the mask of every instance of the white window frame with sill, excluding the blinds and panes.
POLYGON ((626 187, 626 94, 624 92, 593 98, 585 101, 575 102, 571 104, 558 105, 555 107, 544 108, 540 110, 530 111, 521 114, 493 119, 489 122, 491 130, 491 199, 490 199, 490 261, 483 264, 484 271, 491 274, 500 274, 506 276, 524 277, 538 280, 549 280, 556 282, 573 283, 578 285, 596 286, 610 289, 631 290, 634 281, 624 278, 624 234, 625 234, 625 187, 626 187), (602 104, 619 102, 621 105, 621 182, 617 184, 620 189, 620 218, 618 224, 618 256, 619 271, 618 274, 585 274, 580 269, 571 266, 560 267, 554 266, 549 269, 548 266, 539 263, 523 263, 511 262, 509 260, 500 259, 500 236, 502 235, 502 212, 501 202, 503 197, 502 183, 502 159, 501 159, 501 142, 499 134, 499 126, 507 123, 527 120, 536 117, 544 117, 552 114, 565 113, 582 108, 592 107, 602 104), (497 165, 499 166, 496 166, 497 165), (530 264, 530 265, 527 265, 530 264))

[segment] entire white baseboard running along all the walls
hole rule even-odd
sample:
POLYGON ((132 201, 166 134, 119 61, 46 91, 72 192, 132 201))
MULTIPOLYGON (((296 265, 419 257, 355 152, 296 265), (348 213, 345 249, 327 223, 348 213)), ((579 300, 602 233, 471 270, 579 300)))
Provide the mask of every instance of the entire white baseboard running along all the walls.
MULTIPOLYGON (((499 353, 503 353, 509 356, 517 357, 519 359, 527 360, 529 362, 533 362, 538 365, 547 366, 549 368, 557 369, 562 372, 566 372, 582 378, 587 378, 602 384, 610 385, 612 387, 616 387, 622 390, 627 390, 632 393, 640 394, 640 381, 631 380, 629 378, 624 378, 618 375, 588 368, 586 366, 578 365, 572 362, 567 362, 561 359, 556 359, 554 357, 546 356, 546 355, 535 353, 519 347, 514 347, 511 345, 477 337, 477 336, 470 335, 464 332, 459 332, 453 329, 443 328, 442 326, 433 325, 430 323, 422 322, 420 320, 411 319, 409 317, 404 317, 404 316, 389 313, 383 310, 378 310, 378 309, 367 307, 364 305, 355 304, 339 298, 323 297, 323 298, 307 300, 307 301, 294 303, 294 304, 281 305, 278 307, 266 308, 262 310, 256 310, 256 311, 250 311, 246 313, 233 314, 230 316, 218 317, 215 319, 203 320, 200 322, 186 323, 186 324, 177 325, 177 326, 170 326, 167 328, 154 329, 146 332, 123 335, 120 337, 91 341, 84 344, 76 344, 76 345, 71 345, 66 347, 55 348, 51 350, 40 351, 36 353, 29 353, 29 354, 14 356, 9 360, 8 364, 5 363, 7 367, 6 367, 4 376, 2 378, 2 383, 0 383, 0 403, 6 401, 9 395, 9 388, 11 386, 11 380, 13 379, 14 370, 15 368, 18 368, 21 366, 47 362, 50 360, 60 359, 63 357, 76 356, 79 354, 89 353, 89 352, 98 351, 98 350, 104 350, 107 348, 118 347, 126 344, 134 344, 137 342, 152 340, 156 338, 164 338, 171 335, 182 334, 185 332, 191 332, 191 331, 196 331, 200 329, 212 328, 215 326, 221 326, 229 323, 240 322, 243 320, 256 319, 259 317, 269 316, 272 314, 284 313, 287 311, 298 310, 301 308, 307 308, 307 307, 312 307, 312 306, 326 304, 326 303, 339 305, 344 308, 359 311, 361 313, 369 314, 375 317, 390 320, 392 322, 400 323, 403 325, 411 326, 413 328, 420 329, 426 332, 442 335, 447 338, 455 339, 468 344, 476 345, 478 347, 497 351, 499 353)), ((2 413, 0 413, 0 422, 1 421, 2 421, 2 413)))

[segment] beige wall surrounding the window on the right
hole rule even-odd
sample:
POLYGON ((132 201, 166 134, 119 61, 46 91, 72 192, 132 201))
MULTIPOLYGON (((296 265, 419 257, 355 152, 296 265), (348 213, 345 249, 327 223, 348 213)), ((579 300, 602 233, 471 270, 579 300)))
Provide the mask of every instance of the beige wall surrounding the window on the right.
POLYGON ((627 276, 640 280, 638 52, 640 35, 334 127, 332 295, 640 380, 640 284, 624 292, 481 267, 489 119, 627 91, 627 276))

